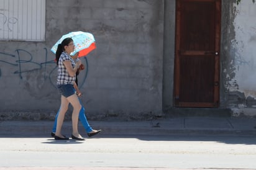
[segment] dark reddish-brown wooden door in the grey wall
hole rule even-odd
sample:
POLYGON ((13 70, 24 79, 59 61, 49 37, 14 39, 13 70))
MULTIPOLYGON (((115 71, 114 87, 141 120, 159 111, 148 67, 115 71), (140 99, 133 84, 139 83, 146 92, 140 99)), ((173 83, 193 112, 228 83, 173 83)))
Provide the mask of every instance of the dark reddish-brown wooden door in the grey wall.
POLYGON ((219 106, 221 0, 176 0, 175 106, 219 106))

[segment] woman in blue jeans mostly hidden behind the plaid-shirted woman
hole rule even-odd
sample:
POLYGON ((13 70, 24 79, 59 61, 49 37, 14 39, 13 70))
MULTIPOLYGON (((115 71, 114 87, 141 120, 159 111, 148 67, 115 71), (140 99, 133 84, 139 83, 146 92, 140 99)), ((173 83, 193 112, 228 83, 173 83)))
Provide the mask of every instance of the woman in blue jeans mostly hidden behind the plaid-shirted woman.
MULTIPOLYGON (((76 53, 75 55, 71 56, 74 60, 76 60, 76 58, 78 58, 78 53, 76 53)), ((91 136, 94 136, 96 134, 98 134, 99 132, 101 132, 101 130, 94 130, 93 128, 91 128, 91 126, 89 125, 87 119, 86 119, 86 115, 85 115, 85 107, 83 107, 83 104, 81 102, 81 99, 80 99, 80 96, 81 96, 81 92, 80 90, 78 89, 78 79, 77 79, 77 76, 80 72, 81 69, 85 69, 85 66, 83 64, 80 65, 80 68, 78 69, 78 71, 76 72, 76 80, 75 80, 75 83, 74 83, 74 88, 76 90, 76 94, 78 96, 78 99, 79 99, 79 102, 81 104, 81 110, 80 110, 80 113, 79 113, 79 120, 81 121, 83 127, 85 127, 85 130, 87 132, 87 135, 89 137, 91 136)), ((52 128, 52 133, 51 133, 51 136, 55 136, 55 132, 56 132, 56 127, 57 127, 57 119, 58 119, 58 114, 60 112, 60 109, 58 110, 57 112, 57 115, 55 116, 55 122, 54 122, 54 125, 53 125, 53 128, 52 128)))

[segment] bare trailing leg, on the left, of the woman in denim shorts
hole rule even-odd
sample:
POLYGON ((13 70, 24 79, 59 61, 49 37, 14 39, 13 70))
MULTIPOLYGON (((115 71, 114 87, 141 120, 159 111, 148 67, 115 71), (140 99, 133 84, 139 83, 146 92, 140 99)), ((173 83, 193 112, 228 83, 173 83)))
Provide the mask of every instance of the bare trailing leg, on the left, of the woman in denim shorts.
POLYGON ((63 124, 63 120, 66 114, 66 110, 68 110, 68 99, 66 99, 66 97, 62 96, 62 104, 60 105, 60 112, 58 114, 58 119, 57 119, 57 128, 56 128, 56 132, 55 135, 59 136, 61 138, 63 138, 62 135, 62 124, 63 124))

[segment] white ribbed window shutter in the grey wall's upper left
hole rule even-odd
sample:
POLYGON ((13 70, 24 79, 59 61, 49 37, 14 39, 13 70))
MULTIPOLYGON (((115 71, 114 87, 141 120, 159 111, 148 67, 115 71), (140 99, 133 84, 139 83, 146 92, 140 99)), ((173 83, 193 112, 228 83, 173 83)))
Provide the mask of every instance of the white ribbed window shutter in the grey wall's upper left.
POLYGON ((45 40, 45 0, 0 0, 0 40, 45 40))

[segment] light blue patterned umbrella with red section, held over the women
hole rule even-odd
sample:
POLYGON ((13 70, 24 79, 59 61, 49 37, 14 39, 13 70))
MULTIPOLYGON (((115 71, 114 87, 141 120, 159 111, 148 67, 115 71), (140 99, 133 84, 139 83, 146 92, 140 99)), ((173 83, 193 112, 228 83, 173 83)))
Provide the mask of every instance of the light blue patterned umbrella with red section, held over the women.
POLYGON ((56 53, 58 44, 62 43, 65 38, 72 38, 75 44, 75 50, 70 55, 75 55, 79 51, 78 57, 86 56, 89 52, 93 51, 96 48, 96 43, 93 37, 93 34, 89 32, 70 32, 65 34, 58 40, 55 45, 51 48, 53 53, 56 53))

